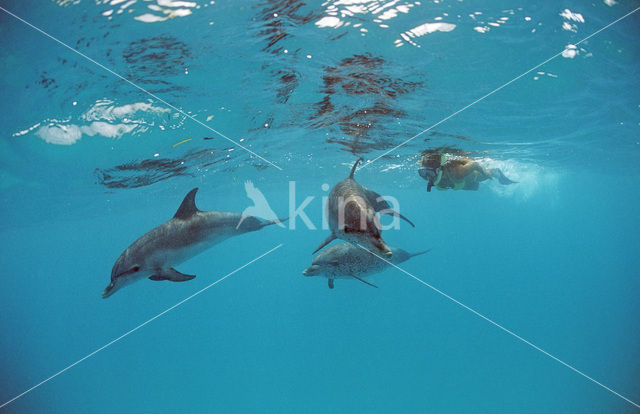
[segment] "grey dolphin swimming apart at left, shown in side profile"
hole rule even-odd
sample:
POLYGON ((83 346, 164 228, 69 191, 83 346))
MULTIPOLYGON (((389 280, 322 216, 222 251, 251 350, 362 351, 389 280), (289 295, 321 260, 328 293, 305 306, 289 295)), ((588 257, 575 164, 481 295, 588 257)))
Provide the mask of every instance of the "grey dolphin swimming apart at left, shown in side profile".
POLYGON ((221 211, 200 211, 196 207, 197 188, 189 191, 173 218, 136 240, 122 252, 111 270, 111 283, 102 293, 111 296, 121 287, 148 277, 150 280, 184 282, 178 265, 229 237, 257 231, 284 219, 260 221, 253 216, 221 211), (242 224, 238 223, 242 220, 242 224))

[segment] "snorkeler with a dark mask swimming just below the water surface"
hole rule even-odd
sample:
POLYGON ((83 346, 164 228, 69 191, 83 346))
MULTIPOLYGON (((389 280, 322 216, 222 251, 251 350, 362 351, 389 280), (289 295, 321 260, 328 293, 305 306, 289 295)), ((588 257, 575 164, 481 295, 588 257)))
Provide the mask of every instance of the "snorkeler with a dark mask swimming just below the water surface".
POLYGON ((431 187, 438 190, 477 190, 480 182, 491 178, 498 179, 503 185, 515 183, 505 177, 499 168, 484 168, 462 151, 453 152, 455 155, 452 154, 451 158, 442 149, 422 153, 422 168, 418 173, 429 181, 427 191, 431 191, 431 187))

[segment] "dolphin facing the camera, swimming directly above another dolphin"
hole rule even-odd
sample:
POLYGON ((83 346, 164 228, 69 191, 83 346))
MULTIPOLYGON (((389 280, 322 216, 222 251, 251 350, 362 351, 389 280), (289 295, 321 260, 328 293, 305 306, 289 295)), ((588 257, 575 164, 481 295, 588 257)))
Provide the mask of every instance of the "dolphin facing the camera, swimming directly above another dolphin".
POLYGON ((342 239, 360 243, 389 257, 392 252, 380 235, 380 222, 376 213, 392 214, 415 227, 405 216, 392 210, 380 194, 369 190, 353 178, 356 167, 362 160, 362 157, 358 158, 349 176, 331 189, 327 201, 331 234, 314 250, 313 254, 333 240, 342 239))

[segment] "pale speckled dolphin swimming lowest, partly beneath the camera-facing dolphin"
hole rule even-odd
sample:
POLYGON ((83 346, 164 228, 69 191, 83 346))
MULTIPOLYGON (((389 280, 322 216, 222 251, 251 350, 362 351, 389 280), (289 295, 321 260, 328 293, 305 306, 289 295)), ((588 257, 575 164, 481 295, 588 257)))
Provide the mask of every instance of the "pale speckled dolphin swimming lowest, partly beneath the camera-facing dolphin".
MULTIPOLYGON (((391 248, 391 258, 388 260, 393 264, 398 264, 429 252, 424 250, 417 253, 409 253, 398 248, 391 248)), ((375 253, 375 252, 374 252, 375 253)), ((305 276, 324 276, 329 279, 329 288, 333 289, 334 279, 355 278, 368 285, 376 285, 362 279, 378 273, 390 265, 379 257, 374 256, 362 247, 354 246, 351 243, 340 243, 318 253, 313 258, 311 266, 302 271, 305 276)))

